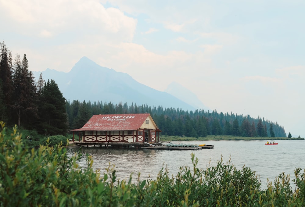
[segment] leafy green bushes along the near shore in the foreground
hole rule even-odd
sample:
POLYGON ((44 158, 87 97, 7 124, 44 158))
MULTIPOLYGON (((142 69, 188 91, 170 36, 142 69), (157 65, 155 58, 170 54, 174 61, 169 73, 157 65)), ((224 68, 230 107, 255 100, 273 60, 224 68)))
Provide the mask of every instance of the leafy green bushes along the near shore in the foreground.
MULTIPOLYGON (((0 123, 1 206, 304 206, 305 183, 301 169, 295 170, 295 187, 282 173, 266 190, 249 168, 229 162, 205 170, 181 167, 176 177, 162 168, 156 180, 134 184, 119 181, 109 166, 105 173, 79 168, 81 153, 68 157, 61 145, 28 148, 14 128, 8 136, 0 123)), ((49 143, 49 140, 46 144, 49 143)))

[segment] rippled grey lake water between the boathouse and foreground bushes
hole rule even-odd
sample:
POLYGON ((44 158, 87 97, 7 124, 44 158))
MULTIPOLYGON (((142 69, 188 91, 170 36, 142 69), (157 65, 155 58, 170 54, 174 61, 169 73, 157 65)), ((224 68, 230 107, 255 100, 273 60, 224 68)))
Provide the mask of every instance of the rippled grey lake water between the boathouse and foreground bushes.
MULTIPOLYGON (((273 141, 273 140, 270 140, 273 141)), ((117 177, 129 178, 133 172, 133 181, 137 180, 138 172, 140 179, 149 177, 155 179, 163 166, 167 166, 170 174, 177 175, 180 166, 192 166, 191 153, 199 159, 198 167, 215 166, 217 160, 223 158, 223 162, 228 162, 231 157, 238 169, 242 166, 249 167, 260 175, 262 188, 266 187, 267 178, 274 181, 282 172, 290 174, 292 180, 296 167, 305 168, 305 141, 304 140, 278 140, 278 145, 265 145, 266 141, 183 141, 181 143, 192 143, 196 145, 215 145, 213 149, 201 150, 154 150, 154 149, 134 149, 134 148, 82 148, 84 154, 92 155, 94 160, 93 168, 106 172, 105 169, 115 165, 117 177)), ((177 142, 178 143, 178 142, 177 142)), ((78 152, 78 148, 68 148, 69 155, 78 152)), ((85 156, 79 162, 85 166, 85 156)), ((292 185, 293 186, 293 185, 292 185)))

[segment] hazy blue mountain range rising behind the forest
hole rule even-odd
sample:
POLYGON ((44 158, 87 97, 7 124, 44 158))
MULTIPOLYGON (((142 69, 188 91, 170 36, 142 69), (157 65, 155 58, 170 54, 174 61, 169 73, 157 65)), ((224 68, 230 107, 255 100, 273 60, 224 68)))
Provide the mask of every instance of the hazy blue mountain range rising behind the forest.
POLYGON ((68 73, 51 69, 33 71, 36 79, 40 73, 44 80, 55 80, 63 97, 70 101, 160 105, 163 109, 208 109, 194 93, 178 83, 169 84, 165 92, 157 91, 137 82, 127 73, 99 66, 87 57, 82 57, 68 73))

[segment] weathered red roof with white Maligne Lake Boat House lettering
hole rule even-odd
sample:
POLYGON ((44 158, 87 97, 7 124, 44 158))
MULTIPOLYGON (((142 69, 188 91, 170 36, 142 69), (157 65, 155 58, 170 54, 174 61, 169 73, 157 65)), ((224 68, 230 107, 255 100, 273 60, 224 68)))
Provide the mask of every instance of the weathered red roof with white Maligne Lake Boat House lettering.
MULTIPOLYGON (((80 129, 71 131, 120 131, 120 130, 137 130, 145 120, 150 117, 149 113, 145 114, 99 114, 93 115, 91 119, 80 129)), ((152 120, 152 118, 151 118, 152 120)), ((156 124, 154 123, 156 126, 156 124)), ((159 131, 156 126, 157 131, 159 131)))

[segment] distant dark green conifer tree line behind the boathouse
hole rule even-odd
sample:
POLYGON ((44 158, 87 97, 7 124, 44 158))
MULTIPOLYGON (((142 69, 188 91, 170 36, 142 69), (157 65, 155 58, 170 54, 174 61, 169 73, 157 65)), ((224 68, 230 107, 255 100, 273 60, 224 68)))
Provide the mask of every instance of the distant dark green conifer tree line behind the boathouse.
POLYGON ((206 137, 207 135, 233 135, 245 137, 270 136, 270 126, 277 137, 286 137, 285 130, 278 123, 266 121, 249 115, 218 113, 216 110, 183 111, 162 106, 137 105, 131 103, 113 104, 111 102, 66 101, 70 129, 81 128, 94 114, 150 113, 164 135, 206 137), (267 126, 268 132, 267 133, 267 126), (276 130, 275 130, 276 129, 276 130))

